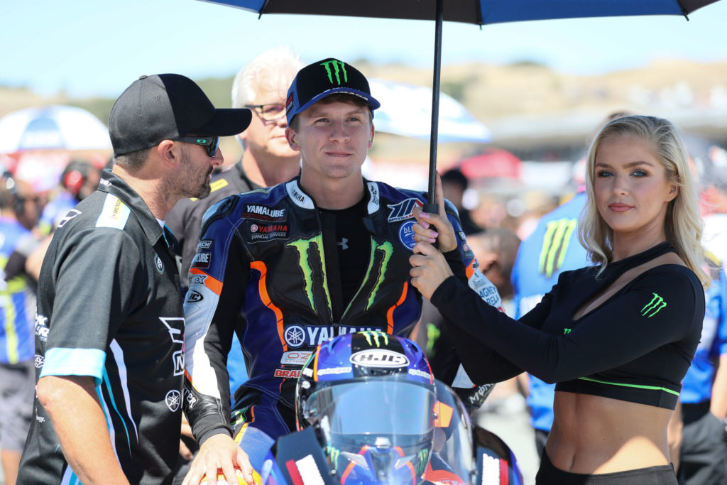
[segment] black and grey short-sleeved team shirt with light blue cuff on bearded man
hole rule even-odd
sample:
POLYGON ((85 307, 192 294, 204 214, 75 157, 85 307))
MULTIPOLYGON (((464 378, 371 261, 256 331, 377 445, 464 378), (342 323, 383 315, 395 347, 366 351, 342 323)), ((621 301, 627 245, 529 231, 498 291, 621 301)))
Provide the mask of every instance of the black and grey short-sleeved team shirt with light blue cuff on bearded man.
MULTIPOLYGON (((132 484, 169 484, 182 416, 184 316, 174 236, 121 178, 61 220, 39 278, 36 377, 90 376, 132 484)), ((36 400, 19 484, 76 484, 36 400)))

